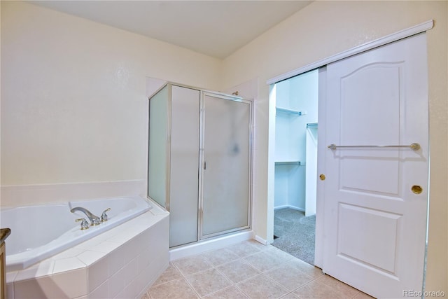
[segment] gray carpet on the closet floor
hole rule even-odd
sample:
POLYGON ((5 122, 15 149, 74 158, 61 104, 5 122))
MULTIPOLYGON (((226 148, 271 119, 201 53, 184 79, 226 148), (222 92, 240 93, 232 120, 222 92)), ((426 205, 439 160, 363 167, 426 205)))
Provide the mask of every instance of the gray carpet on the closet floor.
POLYGON ((274 243, 278 249, 314 265, 316 216, 285 208, 274 211, 274 243))

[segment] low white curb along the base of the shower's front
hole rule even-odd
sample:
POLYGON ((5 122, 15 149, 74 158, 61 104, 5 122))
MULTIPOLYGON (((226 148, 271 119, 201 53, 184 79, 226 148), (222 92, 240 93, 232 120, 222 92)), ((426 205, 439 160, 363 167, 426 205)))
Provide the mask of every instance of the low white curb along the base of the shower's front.
POLYGON ((205 251, 220 249, 225 246, 236 244, 239 242, 253 239, 253 231, 237 232, 232 235, 225 235, 214 239, 207 239, 204 241, 187 244, 185 246, 176 247, 169 251, 169 260, 179 260, 187 256, 194 256, 195 254, 203 253, 205 251))

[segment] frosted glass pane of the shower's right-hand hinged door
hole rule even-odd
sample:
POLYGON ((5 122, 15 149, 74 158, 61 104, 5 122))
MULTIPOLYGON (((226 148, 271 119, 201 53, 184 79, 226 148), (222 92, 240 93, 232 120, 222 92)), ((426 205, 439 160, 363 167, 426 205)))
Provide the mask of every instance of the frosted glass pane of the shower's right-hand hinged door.
POLYGON ((249 227, 251 102, 204 92, 202 239, 249 227))

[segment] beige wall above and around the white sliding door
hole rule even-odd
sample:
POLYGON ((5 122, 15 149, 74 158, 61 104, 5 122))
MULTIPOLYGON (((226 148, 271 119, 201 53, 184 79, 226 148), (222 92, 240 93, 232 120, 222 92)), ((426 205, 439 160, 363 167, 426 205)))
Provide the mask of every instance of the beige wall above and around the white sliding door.
MULTIPOLYGON (((316 1, 225 59, 226 87, 259 79, 255 118, 255 232, 272 234, 272 188, 267 188, 268 97, 265 82, 353 46, 433 19, 428 32, 430 102, 430 226, 427 290, 447 288, 447 1, 316 1), (266 200, 266 198, 268 200, 266 200), (268 221, 262 221, 262 219, 268 221)), ((270 187, 271 185, 269 185, 270 187)))

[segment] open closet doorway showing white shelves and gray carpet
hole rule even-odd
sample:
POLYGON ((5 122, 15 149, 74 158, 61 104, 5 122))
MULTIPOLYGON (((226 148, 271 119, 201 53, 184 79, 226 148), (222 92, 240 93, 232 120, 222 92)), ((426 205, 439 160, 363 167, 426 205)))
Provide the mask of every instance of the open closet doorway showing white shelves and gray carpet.
POLYGON ((318 69, 274 84, 273 246, 314 265, 318 69))

